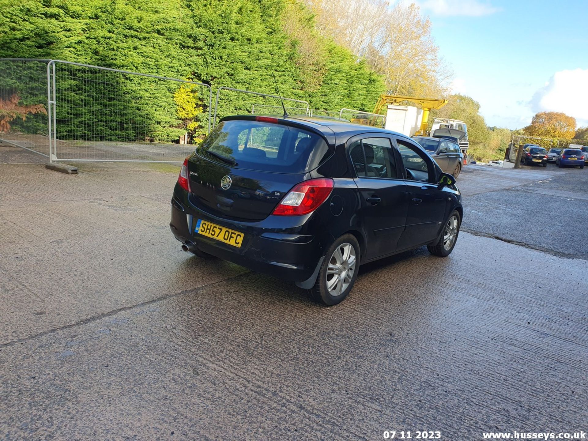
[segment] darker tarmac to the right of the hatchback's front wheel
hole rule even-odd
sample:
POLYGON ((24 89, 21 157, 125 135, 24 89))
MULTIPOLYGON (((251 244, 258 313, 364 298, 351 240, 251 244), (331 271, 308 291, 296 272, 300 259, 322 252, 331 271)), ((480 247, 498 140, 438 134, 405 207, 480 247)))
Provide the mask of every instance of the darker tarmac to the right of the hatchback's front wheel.
POLYGON ((523 243, 560 256, 588 259, 588 167, 525 166, 502 170, 467 166, 458 185, 465 188, 462 228, 523 243), (488 191, 480 183, 516 176, 512 188, 488 191), (473 190, 473 191, 471 191, 473 190))

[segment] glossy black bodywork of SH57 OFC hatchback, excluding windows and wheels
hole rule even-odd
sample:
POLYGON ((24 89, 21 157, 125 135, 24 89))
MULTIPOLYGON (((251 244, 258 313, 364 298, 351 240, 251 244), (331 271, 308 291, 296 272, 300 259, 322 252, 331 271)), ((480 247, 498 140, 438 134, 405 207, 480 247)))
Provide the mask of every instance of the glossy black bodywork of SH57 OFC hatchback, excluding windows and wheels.
MULTIPOLYGON (((231 116, 222 121, 230 119, 255 119, 255 116, 231 116)), ((455 187, 404 179, 406 170, 401 166, 402 159, 397 149, 394 152, 399 179, 358 178, 355 175, 347 152, 348 141, 354 136, 387 137, 393 140, 393 145, 395 139, 402 139, 425 152, 430 159, 428 153, 410 138, 383 129, 332 120, 289 117, 279 118, 279 123, 318 133, 334 147, 333 155, 318 168, 299 175, 245 173, 229 164, 215 163, 216 170, 207 171, 209 175, 205 181, 201 175, 203 158, 193 153, 188 158, 192 193, 186 192, 177 183, 173 192, 170 226, 176 239, 183 243, 196 243, 203 252, 256 272, 268 273, 310 288, 326 249, 345 233, 352 233, 358 239, 360 263, 365 263, 436 243, 449 214, 457 210, 463 215, 460 193, 455 187), (220 185, 222 176, 233 178, 233 173, 237 182, 239 179, 251 181, 247 181, 243 188, 236 185, 228 197, 223 193, 222 198, 227 200, 219 199, 219 195, 210 190, 211 186, 220 185), (277 205, 296 183, 322 177, 332 178, 334 187, 328 200, 315 211, 302 216, 269 214, 269 205, 277 205), (271 201, 263 199, 267 194, 256 195, 256 186, 257 189, 263 188, 267 194, 279 192, 281 196, 271 201), (195 195, 195 191, 199 194, 195 195), (230 215, 230 201, 233 207, 239 207, 237 216, 230 215), (256 215, 256 209, 263 215, 256 215), (235 248, 194 234, 193 223, 196 219, 245 233, 242 246, 235 248), (192 223, 190 229, 189 223, 192 223)), ((432 176, 436 179, 441 170, 432 159, 430 165, 433 167, 432 176)))

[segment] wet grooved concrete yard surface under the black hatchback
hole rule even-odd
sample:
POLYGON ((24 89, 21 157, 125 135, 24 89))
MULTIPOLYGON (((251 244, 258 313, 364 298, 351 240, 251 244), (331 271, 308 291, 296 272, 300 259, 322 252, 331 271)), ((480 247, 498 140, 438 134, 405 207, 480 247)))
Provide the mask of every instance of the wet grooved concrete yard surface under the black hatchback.
MULTIPOLYGON (((462 232, 449 258, 363 266, 323 308, 181 252, 177 168, 79 166, 0 164, 0 439, 586 431, 586 260, 462 232)), ((476 198, 549 198, 519 186, 556 173, 470 170, 468 228, 476 198)))

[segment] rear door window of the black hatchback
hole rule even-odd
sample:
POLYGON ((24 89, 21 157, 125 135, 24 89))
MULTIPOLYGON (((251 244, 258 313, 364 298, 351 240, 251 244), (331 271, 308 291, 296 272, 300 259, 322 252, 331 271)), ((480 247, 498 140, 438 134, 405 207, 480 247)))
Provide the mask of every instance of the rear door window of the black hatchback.
POLYGON ((358 176, 397 178, 392 144, 388 138, 365 138, 349 146, 349 154, 358 176))

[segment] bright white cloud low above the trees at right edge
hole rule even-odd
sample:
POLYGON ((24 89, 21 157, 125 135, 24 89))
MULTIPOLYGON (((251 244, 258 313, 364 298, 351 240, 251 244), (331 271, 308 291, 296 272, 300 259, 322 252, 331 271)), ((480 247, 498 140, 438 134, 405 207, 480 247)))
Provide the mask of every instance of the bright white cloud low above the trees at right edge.
POLYGON ((588 69, 556 72, 531 99, 534 112, 563 112, 588 125, 588 69))

